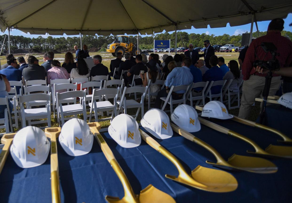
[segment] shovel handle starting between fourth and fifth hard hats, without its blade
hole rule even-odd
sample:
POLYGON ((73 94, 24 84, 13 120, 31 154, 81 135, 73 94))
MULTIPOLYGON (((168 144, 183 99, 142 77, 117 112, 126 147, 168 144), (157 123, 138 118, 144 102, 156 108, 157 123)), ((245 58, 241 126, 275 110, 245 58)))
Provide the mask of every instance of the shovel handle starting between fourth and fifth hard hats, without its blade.
POLYGON ((205 149, 207 149, 209 152, 211 152, 215 158, 217 159, 217 163, 226 163, 226 161, 224 160, 224 158, 221 156, 221 154, 214 149, 211 145, 207 144, 206 142, 204 142, 203 140, 195 137, 194 135, 192 135, 191 133, 185 131, 184 129, 178 127, 177 125, 171 123, 171 127, 173 129, 174 132, 180 134, 181 136, 183 136, 184 138, 204 147, 205 149))

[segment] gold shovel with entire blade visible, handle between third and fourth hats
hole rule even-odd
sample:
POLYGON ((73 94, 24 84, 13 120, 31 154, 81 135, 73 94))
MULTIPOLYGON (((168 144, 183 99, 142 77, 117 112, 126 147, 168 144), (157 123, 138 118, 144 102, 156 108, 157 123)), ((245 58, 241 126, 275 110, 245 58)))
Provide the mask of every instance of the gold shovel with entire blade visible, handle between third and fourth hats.
POLYGON ((171 163, 178 169, 178 177, 173 175, 165 175, 166 178, 175 180, 177 182, 195 187, 200 190, 208 192, 231 192, 236 190, 238 183, 233 175, 223 170, 216 170, 212 168, 206 168, 203 166, 197 166, 189 174, 183 165, 178 161, 172 153, 167 151, 157 141, 150 137, 147 133, 139 129, 142 139, 149 144, 152 148, 159 151, 165 156, 171 163))

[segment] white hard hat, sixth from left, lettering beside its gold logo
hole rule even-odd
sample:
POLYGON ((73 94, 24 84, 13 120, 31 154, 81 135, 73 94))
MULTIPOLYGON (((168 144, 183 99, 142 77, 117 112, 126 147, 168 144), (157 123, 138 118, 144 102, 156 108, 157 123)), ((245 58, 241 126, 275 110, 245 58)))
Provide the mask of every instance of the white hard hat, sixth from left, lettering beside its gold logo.
POLYGON ((201 116, 218 119, 230 119, 232 115, 228 114, 228 110, 220 101, 210 101, 203 107, 201 116))

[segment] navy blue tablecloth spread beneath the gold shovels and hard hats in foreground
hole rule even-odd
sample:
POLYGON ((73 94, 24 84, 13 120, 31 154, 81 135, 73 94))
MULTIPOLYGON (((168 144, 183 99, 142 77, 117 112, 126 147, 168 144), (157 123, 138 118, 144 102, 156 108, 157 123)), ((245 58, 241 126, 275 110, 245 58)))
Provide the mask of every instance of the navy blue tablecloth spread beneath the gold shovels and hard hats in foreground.
MULTIPOLYGON (((277 136, 238 124, 230 120, 212 120, 225 127, 260 141, 263 147, 276 143, 277 136)), ((233 153, 246 153, 252 147, 247 143, 219 133, 202 125, 201 131, 193 133, 217 149, 227 159, 233 153)), ((126 173, 135 193, 152 184, 171 195, 177 202, 291 202, 292 160, 270 159, 278 166, 273 174, 257 174, 243 171, 229 171, 237 178, 238 188, 234 192, 212 193, 198 190, 164 177, 165 174, 178 175, 178 171, 168 159, 152 149, 143 140, 140 146, 125 149, 117 145, 108 133, 102 133, 119 164, 126 173)), ((215 158, 206 149, 174 133, 166 140, 156 139, 171 151, 190 172, 198 165, 214 168, 205 163, 215 158)), ((101 152, 94 139, 93 148, 84 156, 68 156, 58 144, 60 186, 62 202, 106 202, 105 195, 122 198, 124 191, 117 175, 101 152)), ((220 169, 219 169, 220 170, 220 169)), ((38 167, 19 168, 9 155, 0 175, 0 202, 51 202, 50 159, 38 167)))

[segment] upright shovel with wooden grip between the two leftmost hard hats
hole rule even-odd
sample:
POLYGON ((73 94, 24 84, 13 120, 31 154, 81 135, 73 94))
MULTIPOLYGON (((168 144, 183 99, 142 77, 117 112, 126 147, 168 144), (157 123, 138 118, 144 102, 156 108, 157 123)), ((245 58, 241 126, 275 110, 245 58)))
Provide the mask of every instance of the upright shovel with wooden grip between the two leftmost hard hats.
POLYGON ((45 128, 46 136, 51 139, 51 192, 53 203, 61 202, 57 151, 57 137, 59 137, 60 132, 60 127, 45 128))

